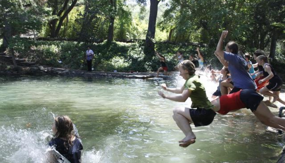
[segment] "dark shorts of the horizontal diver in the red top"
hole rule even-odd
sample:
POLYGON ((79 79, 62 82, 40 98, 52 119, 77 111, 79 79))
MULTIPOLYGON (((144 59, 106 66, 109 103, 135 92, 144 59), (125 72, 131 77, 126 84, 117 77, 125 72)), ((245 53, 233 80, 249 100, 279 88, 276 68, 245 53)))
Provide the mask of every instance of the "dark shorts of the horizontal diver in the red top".
POLYGON ((244 89, 240 92, 240 100, 246 105, 246 108, 256 111, 258 105, 263 100, 263 96, 256 93, 253 89, 244 89))

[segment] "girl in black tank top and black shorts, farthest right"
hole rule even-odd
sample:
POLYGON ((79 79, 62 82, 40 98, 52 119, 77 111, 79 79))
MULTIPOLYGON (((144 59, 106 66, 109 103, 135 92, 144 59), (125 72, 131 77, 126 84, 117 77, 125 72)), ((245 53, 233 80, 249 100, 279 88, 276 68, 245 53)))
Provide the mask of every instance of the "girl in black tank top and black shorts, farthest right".
POLYGON ((283 105, 285 102, 279 98, 280 90, 283 84, 282 79, 276 74, 273 67, 268 63, 268 58, 264 55, 258 56, 256 58, 258 65, 263 67, 263 79, 259 80, 258 83, 261 84, 266 80, 269 80, 269 84, 264 86, 259 92, 263 95, 268 95, 273 97, 272 103, 279 101, 283 105), (272 91, 273 93, 271 93, 272 91))

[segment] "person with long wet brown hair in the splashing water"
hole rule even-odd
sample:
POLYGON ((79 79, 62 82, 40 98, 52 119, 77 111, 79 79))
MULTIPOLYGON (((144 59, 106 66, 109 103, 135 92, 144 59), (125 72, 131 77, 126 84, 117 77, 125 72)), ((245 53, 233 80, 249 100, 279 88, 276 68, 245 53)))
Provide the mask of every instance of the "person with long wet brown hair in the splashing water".
POLYGON ((83 146, 74 133, 73 123, 68 116, 57 116, 52 131, 52 140, 48 143, 71 163, 80 163, 83 146))

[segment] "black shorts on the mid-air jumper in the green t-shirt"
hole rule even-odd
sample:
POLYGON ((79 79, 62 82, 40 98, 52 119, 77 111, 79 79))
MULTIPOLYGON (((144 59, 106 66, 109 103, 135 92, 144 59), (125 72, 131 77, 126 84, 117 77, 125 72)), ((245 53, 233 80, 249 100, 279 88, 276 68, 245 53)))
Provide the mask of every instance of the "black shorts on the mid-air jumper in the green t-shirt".
POLYGON ((195 127, 206 126, 212 123, 216 115, 216 112, 212 109, 190 109, 190 117, 195 127))

